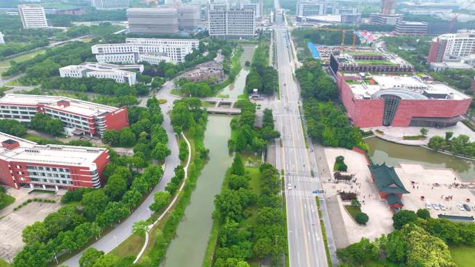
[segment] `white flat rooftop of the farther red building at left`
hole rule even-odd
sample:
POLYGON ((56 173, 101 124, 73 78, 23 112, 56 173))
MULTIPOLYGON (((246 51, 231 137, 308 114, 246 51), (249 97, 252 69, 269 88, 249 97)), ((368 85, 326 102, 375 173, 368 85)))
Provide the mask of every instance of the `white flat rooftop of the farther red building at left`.
POLYGON ((0 98, 0 105, 46 105, 55 110, 64 110, 81 114, 87 117, 94 117, 103 114, 104 112, 115 112, 117 107, 110 107, 108 105, 101 105, 88 101, 82 101, 65 96, 37 96, 30 94, 6 94, 0 98), (69 105, 58 104, 59 101, 67 101, 69 105))

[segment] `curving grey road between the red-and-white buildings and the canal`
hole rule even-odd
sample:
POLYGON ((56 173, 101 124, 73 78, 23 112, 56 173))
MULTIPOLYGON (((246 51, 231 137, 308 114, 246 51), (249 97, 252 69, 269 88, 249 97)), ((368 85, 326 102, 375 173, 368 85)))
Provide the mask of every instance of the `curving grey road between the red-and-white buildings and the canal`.
MULTIPOLYGON (((97 250, 102 250, 103 252, 110 252, 115 247, 117 247, 120 243, 122 243, 128 236, 131 235, 132 232, 132 225, 136 221, 146 220, 150 217, 151 212, 149 210, 149 206, 153 203, 153 194, 158 191, 164 191, 165 185, 172 179, 174 176, 174 169, 175 167, 180 164, 180 160, 178 160, 178 144, 176 143, 175 132, 173 131, 172 124, 170 123, 170 117, 168 116, 167 112, 171 110, 173 107, 173 101, 176 99, 175 96, 169 94, 170 89, 172 89, 173 83, 171 81, 165 83, 162 89, 156 95, 157 98, 165 98, 167 99, 167 103, 160 105, 163 112, 163 128, 167 130, 168 135, 168 148, 172 150, 172 154, 167 157, 165 160, 166 167, 165 172, 163 174, 162 180, 158 183, 158 185, 153 189, 147 199, 144 200, 142 205, 140 205, 135 211, 128 216, 125 221, 117 225, 117 227, 102 236, 99 241, 92 244, 92 246, 88 248, 95 248, 97 250)), ((147 103, 147 99, 143 99, 140 106, 144 106, 147 103)), ((84 250, 83 250, 84 251, 84 250)), ((61 265, 69 266, 69 267, 78 267, 79 266, 79 259, 83 255, 83 252, 78 253, 74 257, 71 257, 67 261, 63 262, 61 265)))

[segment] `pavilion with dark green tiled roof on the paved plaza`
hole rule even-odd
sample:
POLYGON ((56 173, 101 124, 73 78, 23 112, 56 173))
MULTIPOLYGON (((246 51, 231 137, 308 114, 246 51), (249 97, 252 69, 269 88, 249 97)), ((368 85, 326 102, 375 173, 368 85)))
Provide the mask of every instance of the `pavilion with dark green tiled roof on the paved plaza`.
POLYGON ((385 163, 369 165, 372 178, 376 187, 378 187, 379 196, 387 200, 390 207, 403 207, 402 195, 403 193, 410 193, 404 187, 404 184, 399 179, 394 167, 387 166, 385 163))

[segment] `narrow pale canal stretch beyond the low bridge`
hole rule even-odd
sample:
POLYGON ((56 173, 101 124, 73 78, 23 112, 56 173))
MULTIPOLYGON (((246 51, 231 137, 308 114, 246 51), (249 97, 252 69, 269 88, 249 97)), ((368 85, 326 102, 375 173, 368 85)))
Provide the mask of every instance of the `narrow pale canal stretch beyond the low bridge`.
POLYGON ((256 49, 257 44, 244 43, 241 44, 242 52, 240 62, 241 62, 241 71, 236 76, 234 83, 228 85, 222 89, 219 94, 227 94, 228 98, 238 98, 240 94, 244 94, 244 87, 246 86, 246 77, 249 74, 249 67, 244 66, 246 61, 251 62, 254 49, 256 49))

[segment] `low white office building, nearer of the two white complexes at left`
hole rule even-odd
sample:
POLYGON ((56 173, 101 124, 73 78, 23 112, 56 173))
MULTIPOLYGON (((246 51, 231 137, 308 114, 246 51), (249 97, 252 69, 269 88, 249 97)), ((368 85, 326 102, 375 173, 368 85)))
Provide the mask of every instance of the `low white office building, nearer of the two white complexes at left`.
POLYGON ((59 69, 61 77, 72 78, 109 78, 117 83, 135 85, 135 71, 144 71, 144 65, 117 65, 108 63, 85 62, 79 65, 69 65, 59 69), (134 70, 134 71, 131 71, 134 70))

